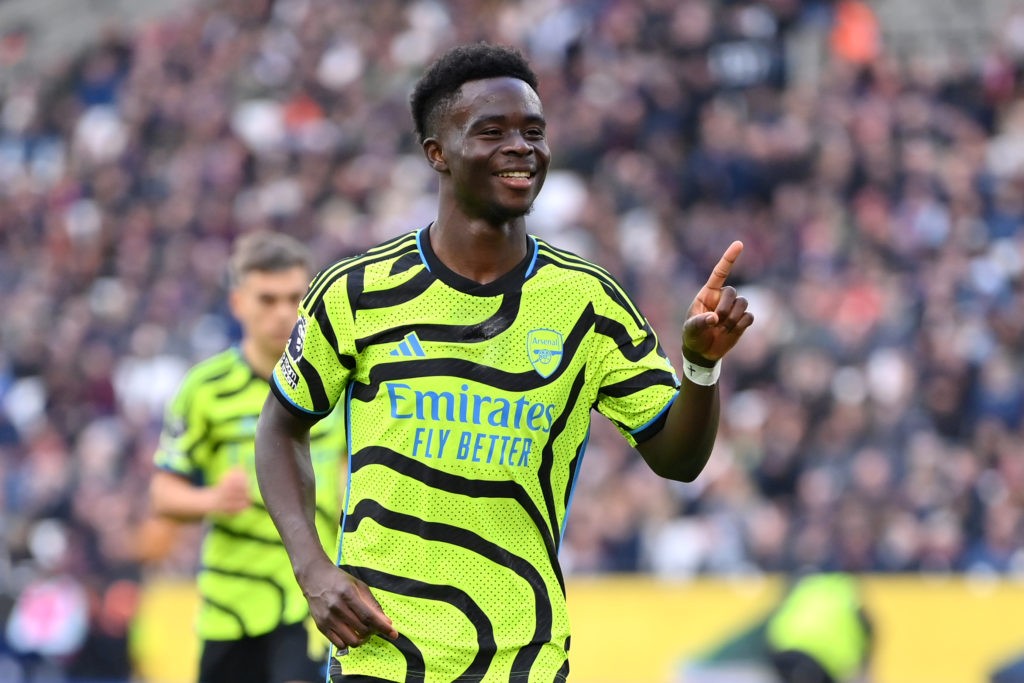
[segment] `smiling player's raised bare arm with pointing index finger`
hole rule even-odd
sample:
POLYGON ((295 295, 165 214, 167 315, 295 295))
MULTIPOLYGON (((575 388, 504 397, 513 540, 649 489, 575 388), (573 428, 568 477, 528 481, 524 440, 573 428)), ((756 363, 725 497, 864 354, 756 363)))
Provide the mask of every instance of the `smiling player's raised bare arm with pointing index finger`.
MULTIPOLYGON (((754 323, 753 313, 746 310, 746 299, 725 284, 742 251, 741 242, 729 245, 690 304, 683 323, 684 362, 714 368, 754 323)), ((658 475, 693 481, 708 464, 715 445, 720 411, 718 383, 705 386, 684 372, 679 396, 669 409, 665 426, 637 450, 658 475)))

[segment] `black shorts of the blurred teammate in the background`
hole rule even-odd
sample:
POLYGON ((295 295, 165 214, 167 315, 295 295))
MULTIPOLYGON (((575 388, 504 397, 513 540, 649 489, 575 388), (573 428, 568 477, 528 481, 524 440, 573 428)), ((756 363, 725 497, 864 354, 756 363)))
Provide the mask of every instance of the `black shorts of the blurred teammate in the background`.
POLYGON ((321 683, 326 663, 309 658, 308 642, 302 623, 280 626, 262 636, 204 640, 199 683, 321 683))

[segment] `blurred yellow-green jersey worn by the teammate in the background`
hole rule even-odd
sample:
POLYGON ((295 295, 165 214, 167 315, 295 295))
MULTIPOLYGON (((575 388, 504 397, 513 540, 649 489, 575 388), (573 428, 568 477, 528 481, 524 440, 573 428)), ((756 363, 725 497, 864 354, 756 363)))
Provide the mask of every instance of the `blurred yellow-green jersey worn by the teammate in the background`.
MULTIPOLYGON (((166 411, 157 467, 203 485, 238 467, 249 474, 253 505, 237 515, 206 520, 197 579, 198 631, 204 640, 258 636, 308 614, 256 483, 256 420, 268 391, 268 382, 253 373, 238 348, 230 348, 193 368, 166 411)), ((344 427, 339 410, 310 435, 316 526, 332 553, 341 516, 344 427)))

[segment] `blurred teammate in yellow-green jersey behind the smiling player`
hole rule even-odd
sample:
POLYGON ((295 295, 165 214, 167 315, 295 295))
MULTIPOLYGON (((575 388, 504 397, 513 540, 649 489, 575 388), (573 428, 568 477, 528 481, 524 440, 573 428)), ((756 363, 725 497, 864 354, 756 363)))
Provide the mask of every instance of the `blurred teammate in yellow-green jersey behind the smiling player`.
MULTIPOLYGON (((165 518, 207 524, 198 577, 200 683, 323 680, 323 661, 310 656, 308 607, 263 506, 253 461, 267 380, 310 274, 310 255, 294 239, 242 237, 229 273, 241 342, 193 368, 167 409, 152 507, 165 518)), ((340 414, 317 423, 309 443, 314 533, 333 550, 345 453, 340 414)))

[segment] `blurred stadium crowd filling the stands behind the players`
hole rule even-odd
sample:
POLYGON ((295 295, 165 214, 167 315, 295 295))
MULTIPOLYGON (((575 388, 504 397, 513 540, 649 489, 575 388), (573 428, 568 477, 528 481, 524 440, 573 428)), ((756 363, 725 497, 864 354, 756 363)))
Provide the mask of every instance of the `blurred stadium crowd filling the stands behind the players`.
POLYGON ((123 642, 164 403, 237 334, 232 240, 285 230, 326 264, 429 221, 409 89, 476 39, 541 76, 555 168, 530 229, 614 273, 677 367, 674 294, 746 245, 758 319, 709 469, 662 480, 595 420, 568 573, 1024 575, 1024 19, 977 62, 903 60, 857 9, 214 0, 7 65, 0 614, 46 585, 80 618, 42 659, 123 642), (816 70, 786 49, 807 35, 816 70))

